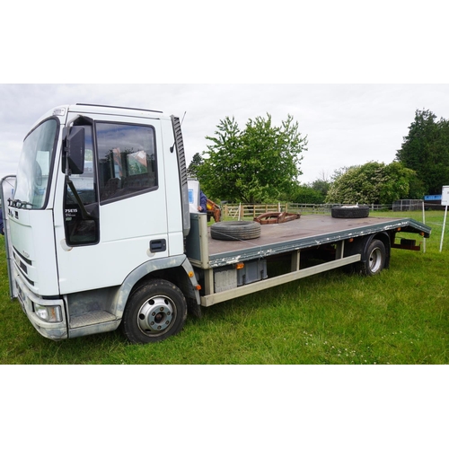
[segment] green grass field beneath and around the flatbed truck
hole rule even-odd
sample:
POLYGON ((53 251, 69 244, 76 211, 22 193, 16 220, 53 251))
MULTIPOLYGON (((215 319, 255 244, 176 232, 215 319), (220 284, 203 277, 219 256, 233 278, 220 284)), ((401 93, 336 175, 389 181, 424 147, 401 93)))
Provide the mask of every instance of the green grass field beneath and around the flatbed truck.
MULTIPOLYGON (((381 214, 385 215, 385 214, 381 214)), ((395 213, 412 216, 420 213, 395 213)), ((332 271, 203 309, 180 335, 133 346, 119 331, 54 342, 9 300, 0 237, 2 364, 441 365, 449 362, 449 233, 444 212, 427 213, 426 253, 392 250, 377 277, 332 271)), ((416 237, 413 237, 416 238, 416 237)))

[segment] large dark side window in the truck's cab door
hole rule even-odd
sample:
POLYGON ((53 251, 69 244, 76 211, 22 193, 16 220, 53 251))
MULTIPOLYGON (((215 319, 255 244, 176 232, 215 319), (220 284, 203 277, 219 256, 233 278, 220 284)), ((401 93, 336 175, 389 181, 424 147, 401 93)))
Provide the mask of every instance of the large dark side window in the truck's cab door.
POLYGON ((96 124, 100 201, 157 188, 154 128, 96 124))

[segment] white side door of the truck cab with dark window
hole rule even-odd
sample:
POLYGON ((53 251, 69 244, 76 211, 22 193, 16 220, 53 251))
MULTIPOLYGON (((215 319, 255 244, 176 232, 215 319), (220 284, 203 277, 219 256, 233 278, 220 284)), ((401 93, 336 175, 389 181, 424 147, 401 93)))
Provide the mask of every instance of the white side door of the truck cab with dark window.
POLYGON ((61 294, 119 286, 169 251, 160 120, 92 114, 74 125, 85 128, 85 162, 70 180, 61 173, 61 294))

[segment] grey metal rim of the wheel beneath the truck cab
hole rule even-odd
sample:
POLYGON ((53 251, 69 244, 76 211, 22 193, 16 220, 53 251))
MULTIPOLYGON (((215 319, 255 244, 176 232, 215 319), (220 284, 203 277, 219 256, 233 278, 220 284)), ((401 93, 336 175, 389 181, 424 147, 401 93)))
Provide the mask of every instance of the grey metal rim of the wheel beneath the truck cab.
POLYGON ((172 326, 175 319, 175 307, 166 296, 149 299, 137 314, 137 325, 145 334, 159 334, 172 326))

